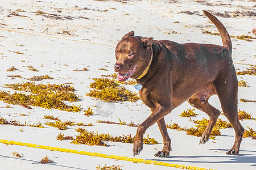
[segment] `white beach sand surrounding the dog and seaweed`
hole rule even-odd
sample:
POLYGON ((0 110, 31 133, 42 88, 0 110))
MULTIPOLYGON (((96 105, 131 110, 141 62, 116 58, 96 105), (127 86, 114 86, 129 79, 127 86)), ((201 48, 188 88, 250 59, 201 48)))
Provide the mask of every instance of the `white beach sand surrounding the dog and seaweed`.
MULTIPOLYGON (((215 12, 225 11, 253 11, 255 12, 255 1, 209 1, 210 4, 201 4, 195 1, 32 1, 13 0, 1 1, 0 3, 0 90, 11 91, 5 88, 4 84, 22 83, 34 75, 49 75, 54 79, 42 80, 35 83, 73 83, 76 94, 81 101, 72 103, 81 105, 86 109, 96 105, 94 100, 85 95, 89 92, 89 83, 93 78, 101 74, 113 73, 115 63, 114 48, 117 42, 125 33, 133 30, 135 35, 154 37, 155 40, 172 40, 176 42, 200 42, 209 44, 220 44, 220 36, 203 34, 202 31, 217 32, 217 29, 209 19, 203 15, 201 10, 212 10, 215 12), (125 3, 127 2, 127 3, 125 3), (169 3, 173 2, 173 3, 169 3), (174 3, 179 2, 179 3, 174 3), (220 5, 222 3, 222 5, 220 5), (213 6, 210 6, 213 5, 213 6), (85 10, 84 8, 87 8, 85 10), (17 12, 16 10, 23 10, 17 12), (35 12, 57 14, 61 19, 46 18, 35 12), (106 10, 106 11, 104 11, 106 10), (27 16, 10 15, 16 14, 27 16), (181 11, 199 11, 197 14, 188 15, 179 13, 181 11), (7 17, 10 15, 11 17, 7 17), (67 19, 69 18, 69 19, 67 19), (70 19, 71 18, 71 19, 70 19), (89 19, 86 19, 89 18, 89 19), (179 22, 179 23, 174 23, 179 22), (16 32, 15 32, 16 31, 16 32), (18 31, 18 32, 17 32, 18 31), (64 32, 63 32, 64 31, 64 32), (66 31, 66 32, 65 32, 66 31), (172 33, 176 32, 176 33, 172 33), (169 34, 168 34, 169 33, 169 34), (78 40, 78 41, 76 41, 78 40), (91 44, 88 42, 95 42, 91 44), (97 44, 99 43, 99 44, 97 44), (105 44, 105 45, 104 45, 105 44), (22 45, 22 46, 19 46, 22 45), (16 54, 19 51, 23 54, 16 54), (23 62, 24 61, 24 62, 23 62), (38 72, 28 70, 27 66, 33 66, 38 72), (43 65, 43 66, 41 66, 43 65), (11 66, 19 69, 15 72, 7 72, 11 66), (89 71, 73 71, 87 67, 89 71), (105 68, 108 71, 98 69, 105 68), (10 78, 7 75, 19 74, 23 78, 10 78)), ((46 15, 48 15, 46 14, 46 15)), ((54 15, 49 15, 54 16, 54 15)), ((56 16, 56 15, 55 15, 56 16)), ((255 16, 237 16, 218 19, 226 26, 230 35, 249 35, 255 27, 255 16)), ((254 36, 255 37, 255 36, 254 36)), ((255 40, 232 39, 233 61, 256 65, 255 40)), ((235 64, 236 69, 243 70, 249 65, 235 64)), ((255 100, 256 77, 251 75, 238 76, 239 80, 245 80, 249 87, 240 87, 238 99, 245 98, 255 100)), ((134 90, 132 86, 127 86, 134 90)), ((135 91, 135 90, 134 90, 135 91)), ((221 109, 217 96, 210 99, 214 107, 221 109)), ((72 113, 59 111, 57 109, 43 109, 32 107, 26 109, 19 105, 10 105, 13 108, 6 108, 6 103, 0 101, 0 117, 6 120, 16 120, 29 124, 46 122, 42 119, 44 114, 53 115, 63 121, 71 120, 76 122, 89 123, 94 126, 86 127, 99 133, 113 135, 135 135, 137 128, 122 125, 108 125, 96 123, 96 120, 108 120, 119 122, 119 119, 129 123, 131 121, 139 124, 144 121, 149 108, 142 103, 123 102, 115 103, 114 113, 110 117, 93 115, 84 116, 83 112, 72 113), (28 116, 20 116, 27 114, 28 116)), ((256 117, 255 103, 238 102, 238 107, 251 113, 256 117)), ((92 107, 93 108, 93 107, 92 107)), ((180 124, 182 127, 195 126, 188 122, 188 118, 181 118, 178 115, 187 108, 192 108, 188 103, 180 105, 166 116, 166 122, 170 121, 180 124)), ((93 108, 95 109, 95 108, 93 108)), ((207 118, 207 114, 196 110, 199 114, 196 118, 207 118)), ((220 116, 226 120, 224 116, 220 116)), ((244 128, 249 126, 256 129, 254 120, 243 120, 244 128)), ((77 135, 77 127, 69 126, 67 130, 61 131, 56 128, 44 125, 46 128, 31 128, 11 125, 0 126, 0 139, 18 142, 34 143, 53 147, 71 148, 75 150, 100 152, 109 155, 120 155, 133 157, 133 145, 127 143, 107 142, 109 147, 73 145, 70 141, 57 141, 59 133, 65 135, 77 135), (22 129, 23 131, 20 131, 22 129)), ((137 158, 159 160, 167 163, 191 165, 209 169, 255 169, 256 168, 256 140, 244 138, 241 144, 239 156, 229 156, 225 152, 232 147, 234 142, 234 130, 232 128, 221 130, 221 136, 216 140, 210 139, 205 145, 199 145, 200 138, 185 135, 182 131, 168 129, 172 139, 172 152, 170 158, 155 158, 154 154, 162 150, 162 144, 144 145, 143 151, 137 158)), ((145 134, 162 143, 162 137, 158 126, 151 126, 145 134)), ((90 157, 84 155, 70 154, 65 152, 42 150, 23 146, 6 146, 0 143, 0 169, 95 169, 98 164, 103 167, 105 164, 111 166, 124 165, 122 169, 177 169, 160 167, 156 165, 134 164, 131 162, 115 161, 111 159, 90 157), (23 154, 22 158, 14 158, 12 152, 23 154), (51 164, 40 164, 45 156, 53 160, 51 164)))

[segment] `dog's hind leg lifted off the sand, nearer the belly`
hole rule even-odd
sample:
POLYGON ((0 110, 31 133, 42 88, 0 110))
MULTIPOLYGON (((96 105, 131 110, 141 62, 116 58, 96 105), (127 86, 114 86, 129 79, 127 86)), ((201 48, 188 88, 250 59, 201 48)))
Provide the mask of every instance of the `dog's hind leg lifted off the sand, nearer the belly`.
POLYGON ((207 128, 204 130, 202 134, 200 144, 204 144, 209 140, 213 126, 216 124, 218 116, 220 116, 220 111, 218 111, 218 109, 214 108, 212 105, 208 103, 209 97, 210 96, 206 97, 204 103, 197 97, 197 95, 191 97, 191 99, 188 100, 188 103, 191 104, 193 107, 207 113, 210 119, 207 128))

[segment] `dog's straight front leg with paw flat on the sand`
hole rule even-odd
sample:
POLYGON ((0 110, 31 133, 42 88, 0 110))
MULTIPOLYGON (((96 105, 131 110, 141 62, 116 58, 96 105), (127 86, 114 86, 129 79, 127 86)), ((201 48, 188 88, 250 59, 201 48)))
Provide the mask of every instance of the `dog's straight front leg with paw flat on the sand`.
POLYGON ((164 118, 158 121, 158 127, 163 137, 163 150, 159 151, 155 154, 156 157, 159 158, 169 158, 171 148, 171 139, 168 135, 167 128, 166 128, 166 122, 164 121, 164 118))

